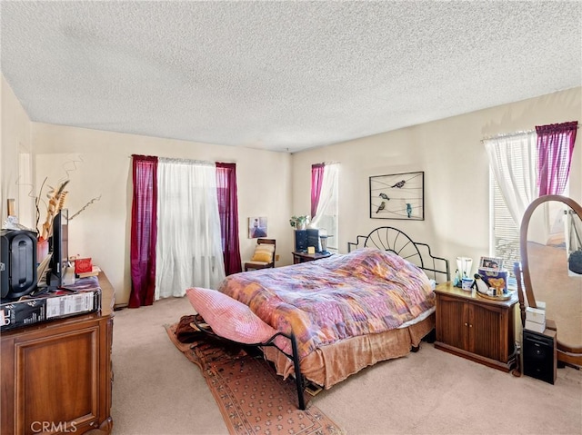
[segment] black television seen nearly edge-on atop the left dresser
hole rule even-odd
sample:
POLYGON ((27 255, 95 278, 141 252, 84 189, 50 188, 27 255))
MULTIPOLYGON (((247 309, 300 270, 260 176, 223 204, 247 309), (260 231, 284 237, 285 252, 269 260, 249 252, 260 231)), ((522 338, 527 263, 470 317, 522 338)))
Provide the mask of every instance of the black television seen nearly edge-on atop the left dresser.
POLYGON ((46 279, 49 288, 63 286, 66 269, 69 267, 68 210, 61 209, 53 218, 53 233, 48 239, 50 272, 46 279))

